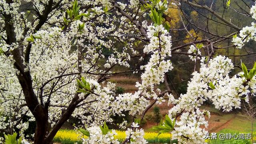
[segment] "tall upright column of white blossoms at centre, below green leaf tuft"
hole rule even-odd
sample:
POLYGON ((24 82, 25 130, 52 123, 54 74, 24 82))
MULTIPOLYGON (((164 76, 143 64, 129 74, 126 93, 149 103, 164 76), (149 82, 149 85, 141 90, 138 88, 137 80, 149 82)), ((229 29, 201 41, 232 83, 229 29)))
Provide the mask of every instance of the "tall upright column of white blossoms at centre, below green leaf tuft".
POLYGON ((149 26, 148 37, 150 44, 145 46, 144 53, 153 52, 148 64, 146 64, 145 72, 141 75, 142 83, 137 82, 138 87, 143 92, 146 88, 153 88, 155 84, 164 81, 164 73, 172 70, 173 66, 170 60, 165 60, 167 56, 171 56, 171 36, 168 36, 167 30, 162 24, 160 26, 149 26))

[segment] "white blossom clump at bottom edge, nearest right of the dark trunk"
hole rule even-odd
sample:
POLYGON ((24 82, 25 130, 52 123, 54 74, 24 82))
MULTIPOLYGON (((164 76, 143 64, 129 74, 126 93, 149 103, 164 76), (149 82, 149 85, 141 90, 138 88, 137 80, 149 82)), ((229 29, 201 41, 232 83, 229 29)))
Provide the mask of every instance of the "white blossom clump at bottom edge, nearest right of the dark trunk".
POLYGON ((114 138, 117 135, 116 130, 110 130, 107 134, 102 134, 102 131, 98 126, 93 126, 87 129, 90 132, 90 137, 83 138, 83 144, 119 144, 117 139, 114 138))

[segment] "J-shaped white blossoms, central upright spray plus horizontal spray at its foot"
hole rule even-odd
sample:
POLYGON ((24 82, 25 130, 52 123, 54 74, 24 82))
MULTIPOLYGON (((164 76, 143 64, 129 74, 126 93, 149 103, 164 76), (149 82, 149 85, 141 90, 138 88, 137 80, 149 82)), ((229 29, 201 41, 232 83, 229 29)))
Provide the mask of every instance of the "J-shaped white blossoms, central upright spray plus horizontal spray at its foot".
POLYGON ((105 94, 99 100, 101 105, 106 105, 105 108, 111 107, 116 114, 121 114, 122 111, 129 111, 129 114, 136 115, 142 114, 143 110, 150 104, 150 100, 146 98, 158 98, 158 104, 165 101, 163 98, 157 97, 157 94, 154 92, 154 85, 163 82, 164 73, 173 68, 170 60, 165 60, 167 56, 171 56, 171 36, 168 36, 168 34, 162 25, 148 26, 150 44, 145 46, 144 52, 153 52, 153 54, 145 66, 145 72, 141 76, 142 84, 136 82, 136 87, 139 90, 134 94, 119 94, 116 96, 114 102, 112 102, 113 97, 110 98, 111 96, 105 94), (149 91, 148 88, 150 89, 149 91), (102 101, 106 97, 112 100, 102 101))

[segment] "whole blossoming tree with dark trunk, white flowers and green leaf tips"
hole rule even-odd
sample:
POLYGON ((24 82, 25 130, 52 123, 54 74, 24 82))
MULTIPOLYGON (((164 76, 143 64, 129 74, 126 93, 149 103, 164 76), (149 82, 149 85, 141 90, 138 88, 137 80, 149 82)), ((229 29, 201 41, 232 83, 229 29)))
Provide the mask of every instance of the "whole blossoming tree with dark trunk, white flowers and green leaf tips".
MULTIPOLYGON (((172 5, 181 8, 178 2, 172 5)), ((128 111, 137 118, 131 126, 125 121, 119 124, 127 127, 123 143, 144 144, 140 120, 155 103, 168 100, 174 107, 163 126, 155 129, 172 133, 172 139, 180 143, 202 144, 207 131, 200 126, 207 127, 205 117, 210 117, 208 111, 199 110, 204 101, 230 111, 255 94, 256 64, 249 72, 242 64, 243 72, 230 77, 231 60, 214 56, 218 40, 194 40, 172 48, 166 0, 1 0, 0 6, 0 131, 12 134, 18 128, 24 141, 29 121, 36 122, 34 144, 50 144, 73 116, 85 128, 80 129, 88 136, 84 143, 118 144, 115 130, 109 130, 105 122, 112 122, 111 115, 128 111), (148 24, 146 15, 152 23, 148 24), (143 50, 136 49, 138 43, 143 50), (186 46, 188 52, 179 52, 186 46), (201 48, 208 49, 208 54, 203 56, 201 48), (112 54, 106 58, 103 49, 112 54), (168 86, 156 90, 174 68, 172 53, 200 60, 200 70, 192 74, 187 93, 179 98, 168 86), (116 65, 129 68, 132 58, 145 56, 149 61, 140 69, 113 69, 116 65), (140 71, 141 82, 134 93, 115 96, 115 84, 106 81, 116 74, 140 71)), ((234 44, 241 48, 244 42, 255 40, 255 32, 252 23, 234 36, 234 44)))

